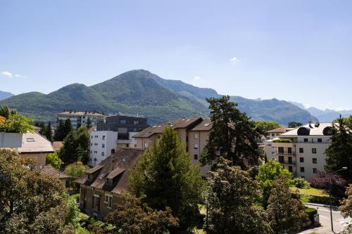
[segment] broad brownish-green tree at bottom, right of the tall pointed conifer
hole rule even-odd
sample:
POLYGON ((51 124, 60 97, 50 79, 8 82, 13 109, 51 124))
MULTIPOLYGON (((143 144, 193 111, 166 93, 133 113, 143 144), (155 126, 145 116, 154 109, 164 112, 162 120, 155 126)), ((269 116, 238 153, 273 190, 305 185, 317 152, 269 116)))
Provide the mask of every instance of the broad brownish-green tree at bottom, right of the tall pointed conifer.
POLYGON ((220 157, 208 187, 208 226, 210 234, 272 233, 265 211, 256 205, 260 186, 249 172, 230 167, 231 162, 220 157))

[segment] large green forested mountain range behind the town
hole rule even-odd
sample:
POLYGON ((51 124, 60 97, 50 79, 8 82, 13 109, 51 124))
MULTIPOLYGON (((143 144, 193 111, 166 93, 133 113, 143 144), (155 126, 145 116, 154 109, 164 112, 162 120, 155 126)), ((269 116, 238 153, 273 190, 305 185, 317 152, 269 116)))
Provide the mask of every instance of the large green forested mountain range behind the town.
MULTIPOLYGON (((70 84, 49 94, 30 92, 1 100, 35 120, 54 120, 63 110, 98 110, 139 114, 149 123, 182 116, 208 117, 205 98, 219 97, 213 89, 203 89, 177 80, 158 77, 146 70, 132 70, 93 86, 70 84)), ((251 100, 232 96, 239 109, 254 120, 272 120, 287 125, 290 121, 315 119, 306 110, 284 100, 251 100)))

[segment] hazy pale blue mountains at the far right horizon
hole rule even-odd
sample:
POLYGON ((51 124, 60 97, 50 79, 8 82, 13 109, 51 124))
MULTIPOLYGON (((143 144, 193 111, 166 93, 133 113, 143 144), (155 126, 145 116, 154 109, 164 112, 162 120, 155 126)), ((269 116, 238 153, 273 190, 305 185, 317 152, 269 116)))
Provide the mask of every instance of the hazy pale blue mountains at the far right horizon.
POLYGON ((320 110, 318 108, 313 108, 313 107, 305 108, 304 105, 301 103, 295 103, 295 102, 290 102, 290 103, 298 106, 302 110, 307 110, 308 112, 310 112, 310 115, 317 117, 320 122, 332 122, 334 119, 337 119, 340 115, 342 117, 349 117, 350 115, 352 115, 352 110, 340 110, 340 111, 329 110, 329 109, 320 110))

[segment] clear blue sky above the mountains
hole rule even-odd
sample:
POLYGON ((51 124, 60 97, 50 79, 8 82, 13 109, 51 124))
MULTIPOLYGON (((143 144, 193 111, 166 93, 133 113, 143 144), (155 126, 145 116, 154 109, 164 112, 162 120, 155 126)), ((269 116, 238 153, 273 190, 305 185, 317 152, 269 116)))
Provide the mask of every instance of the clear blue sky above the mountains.
POLYGON ((352 109, 352 1, 0 0, 0 90, 134 69, 221 94, 352 109))

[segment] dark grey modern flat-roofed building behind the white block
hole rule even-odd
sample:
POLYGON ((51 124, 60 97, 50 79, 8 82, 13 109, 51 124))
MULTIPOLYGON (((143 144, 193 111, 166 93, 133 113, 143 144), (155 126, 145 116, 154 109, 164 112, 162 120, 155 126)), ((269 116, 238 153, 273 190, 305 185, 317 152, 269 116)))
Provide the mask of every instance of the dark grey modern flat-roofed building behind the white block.
POLYGON ((118 131, 119 140, 130 140, 130 132, 139 132, 149 127, 147 118, 141 115, 121 114, 106 117, 96 126, 97 131, 118 131))

